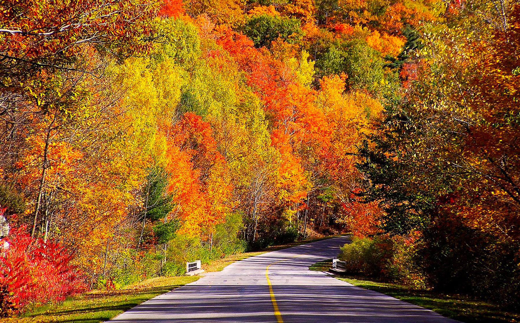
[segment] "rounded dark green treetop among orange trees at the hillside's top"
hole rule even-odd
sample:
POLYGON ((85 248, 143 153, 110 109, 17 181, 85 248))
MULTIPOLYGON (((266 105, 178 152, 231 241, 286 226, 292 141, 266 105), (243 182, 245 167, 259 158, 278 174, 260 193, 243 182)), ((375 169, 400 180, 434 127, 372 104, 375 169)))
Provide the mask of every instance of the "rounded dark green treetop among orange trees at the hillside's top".
POLYGON ((249 18, 243 26, 244 34, 255 43, 256 47, 270 47, 277 38, 290 44, 302 37, 300 20, 271 15, 257 15, 249 18))

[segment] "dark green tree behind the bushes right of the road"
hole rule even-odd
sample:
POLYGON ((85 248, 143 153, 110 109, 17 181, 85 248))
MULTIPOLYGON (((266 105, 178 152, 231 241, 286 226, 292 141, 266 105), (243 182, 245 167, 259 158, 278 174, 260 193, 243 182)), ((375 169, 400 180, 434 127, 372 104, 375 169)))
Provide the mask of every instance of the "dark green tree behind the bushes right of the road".
MULTIPOLYGON (((394 103, 399 104, 399 98, 396 100, 394 103)), ((405 109, 388 105, 386 115, 388 128, 381 131, 383 135, 372 136, 370 144, 363 142, 359 147, 361 162, 356 166, 367 176, 368 188, 363 197, 367 201, 382 201, 383 230, 402 235, 428 225, 436 198, 447 187, 445 180, 439 180, 436 186, 426 186, 417 176, 421 173, 440 178, 443 165, 436 164, 434 171, 409 163, 418 144, 415 138, 424 131, 417 127, 414 118, 405 109)))

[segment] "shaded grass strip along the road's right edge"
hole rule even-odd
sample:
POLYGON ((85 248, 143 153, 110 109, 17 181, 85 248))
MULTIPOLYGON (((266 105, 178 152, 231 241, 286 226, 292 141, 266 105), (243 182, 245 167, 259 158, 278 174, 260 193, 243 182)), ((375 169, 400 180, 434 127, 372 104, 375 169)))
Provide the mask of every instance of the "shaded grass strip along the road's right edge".
MULTIPOLYGON (((313 271, 328 271, 332 259, 317 262, 309 267, 313 271)), ((445 294, 432 290, 418 290, 409 286, 375 281, 368 277, 335 276, 335 278, 365 289, 431 309, 443 316, 465 323, 518 323, 520 313, 508 312, 497 304, 476 300, 466 295, 445 294)))

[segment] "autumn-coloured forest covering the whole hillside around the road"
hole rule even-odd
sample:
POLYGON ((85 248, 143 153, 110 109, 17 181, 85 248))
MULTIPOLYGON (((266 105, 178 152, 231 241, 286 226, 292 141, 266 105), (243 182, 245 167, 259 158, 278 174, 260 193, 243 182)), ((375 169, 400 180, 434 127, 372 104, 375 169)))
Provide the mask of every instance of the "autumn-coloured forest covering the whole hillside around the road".
POLYGON ((353 271, 520 304, 514 0, 0 7, 3 316, 343 232, 353 271))

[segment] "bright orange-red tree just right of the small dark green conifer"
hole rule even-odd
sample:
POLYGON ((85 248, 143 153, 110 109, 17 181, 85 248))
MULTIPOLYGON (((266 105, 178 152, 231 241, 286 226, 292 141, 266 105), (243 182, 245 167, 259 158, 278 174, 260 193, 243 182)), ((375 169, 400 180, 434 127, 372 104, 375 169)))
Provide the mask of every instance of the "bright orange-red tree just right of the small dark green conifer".
POLYGON ((213 130, 188 112, 172 127, 167 144, 168 192, 176 205, 172 216, 182 220, 180 233, 207 233, 232 207, 229 171, 213 130))

